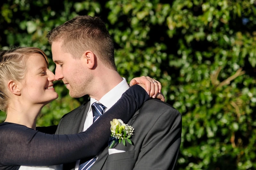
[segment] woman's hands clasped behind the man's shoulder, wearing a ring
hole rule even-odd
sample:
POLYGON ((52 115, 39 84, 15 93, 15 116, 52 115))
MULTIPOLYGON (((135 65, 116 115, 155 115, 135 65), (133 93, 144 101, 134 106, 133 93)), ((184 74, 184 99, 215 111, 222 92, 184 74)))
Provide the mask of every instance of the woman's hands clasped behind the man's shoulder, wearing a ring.
POLYGON ((155 79, 152 79, 148 76, 136 77, 130 81, 130 86, 139 84, 143 87, 148 93, 149 97, 160 99, 161 101, 165 101, 164 96, 161 94, 161 83, 155 79))

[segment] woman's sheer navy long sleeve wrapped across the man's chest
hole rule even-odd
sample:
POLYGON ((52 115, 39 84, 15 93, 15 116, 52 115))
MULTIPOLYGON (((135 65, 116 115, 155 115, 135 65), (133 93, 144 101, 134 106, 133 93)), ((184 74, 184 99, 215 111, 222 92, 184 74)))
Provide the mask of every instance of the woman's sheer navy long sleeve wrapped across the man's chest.
POLYGON ((18 165, 57 165, 95 156, 109 139, 110 121, 116 118, 127 122, 148 99, 146 91, 134 85, 90 128, 74 135, 50 135, 19 124, 2 123, 0 169, 18 165))

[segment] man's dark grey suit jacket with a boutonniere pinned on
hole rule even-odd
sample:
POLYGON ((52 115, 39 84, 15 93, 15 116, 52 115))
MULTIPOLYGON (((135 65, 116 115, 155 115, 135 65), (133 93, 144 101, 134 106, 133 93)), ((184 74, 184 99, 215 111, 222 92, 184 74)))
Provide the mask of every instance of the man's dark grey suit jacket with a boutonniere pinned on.
MULTIPOLYGON (((81 132, 89 103, 64 115, 56 134, 81 132)), ((135 128, 131 139, 133 145, 116 144, 115 149, 126 152, 112 155, 108 155, 106 147, 91 170, 174 169, 181 143, 181 115, 176 109, 160 100, 151 99, 142 105, 128 125, 135 128)), ((63 165, 63 169, 74 167, 75 163, 63 165)))

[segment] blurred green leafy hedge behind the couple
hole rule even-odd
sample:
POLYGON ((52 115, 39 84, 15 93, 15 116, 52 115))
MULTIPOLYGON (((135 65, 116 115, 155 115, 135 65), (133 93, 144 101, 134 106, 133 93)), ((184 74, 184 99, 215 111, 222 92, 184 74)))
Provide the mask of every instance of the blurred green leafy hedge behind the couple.
MULTIPOLYGON (((115 42, 119 73, 161 81, 182 114, 177 169, 256 168, 256 9, 254 0, 1 1, 0 48, 45 50, 47 31, 76 15, 100 16, 115 42)), ((58 124, 88 98, 60 97, 38 126, 58 124)), ((0 112, 0 122, 5 113, 0 112)))

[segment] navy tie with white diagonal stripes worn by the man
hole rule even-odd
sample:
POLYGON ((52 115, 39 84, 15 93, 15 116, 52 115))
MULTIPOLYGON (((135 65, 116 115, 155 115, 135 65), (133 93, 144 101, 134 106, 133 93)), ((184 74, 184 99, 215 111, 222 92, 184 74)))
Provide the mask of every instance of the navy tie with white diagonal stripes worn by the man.
MULTIPOLYGON (((92 111, 93 111, 93 122, 99 119, 99 117, 104 113, 105 106, 101 103, 93 103, 92 104, 92 111)), ((96 157, 86 161, 79 165, 78 170, 89 170, 96 161, 96 157)))

